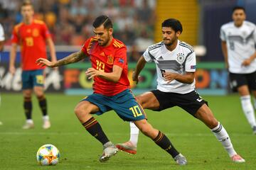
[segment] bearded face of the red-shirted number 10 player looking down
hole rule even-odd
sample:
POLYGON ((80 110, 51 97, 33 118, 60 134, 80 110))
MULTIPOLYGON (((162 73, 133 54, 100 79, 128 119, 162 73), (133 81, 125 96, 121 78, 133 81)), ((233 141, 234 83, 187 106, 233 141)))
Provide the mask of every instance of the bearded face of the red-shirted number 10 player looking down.
POLYGON ((113 29, 106 29, 103 25, 101 25, 97 28, 94 28, 93 33, 95 33, 95 37, 97 38, 100 46, 107 46, 110 43, 113 29))

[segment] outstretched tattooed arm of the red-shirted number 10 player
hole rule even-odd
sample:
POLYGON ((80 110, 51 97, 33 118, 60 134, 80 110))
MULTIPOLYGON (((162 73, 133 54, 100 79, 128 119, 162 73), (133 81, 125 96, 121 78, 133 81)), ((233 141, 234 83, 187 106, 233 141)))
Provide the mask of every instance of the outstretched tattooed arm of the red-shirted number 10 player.
POLYGON ((65 57, 56 62, 50 62, 49 60, 47 60, 45 58, 39 58, 38 60, 36 60, 36 62, 41 67, 43 67, 45 65, 47 67, 59 67, 59 66, 65 65, 65 64, 79 62, 80 60, 84 59, 85 57, 86 57, 85 53, 82 51, 79 51, 79 52, 74 52, 71 55, 68 55, 68 57, 65 57))

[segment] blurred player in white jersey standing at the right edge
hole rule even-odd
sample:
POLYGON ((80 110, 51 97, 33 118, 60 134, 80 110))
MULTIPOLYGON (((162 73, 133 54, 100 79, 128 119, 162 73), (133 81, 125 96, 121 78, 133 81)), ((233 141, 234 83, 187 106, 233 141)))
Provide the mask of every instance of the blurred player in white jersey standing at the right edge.
POLYGON ((245 21, 245 17, 245 8, 235 6, 233 22, 220 28, 220 39, 230 86, 233 91, 238 91, 242 111, 256 135, 255 111, 250 98, 252 91, 256 108, 256 27, 245 21))

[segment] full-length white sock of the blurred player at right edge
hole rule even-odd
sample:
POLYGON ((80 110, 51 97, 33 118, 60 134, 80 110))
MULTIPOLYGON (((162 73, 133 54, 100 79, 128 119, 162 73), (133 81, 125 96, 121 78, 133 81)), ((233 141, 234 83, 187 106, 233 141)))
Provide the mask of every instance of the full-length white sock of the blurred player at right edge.
POLYGON ((255 113, 252 107, 250 96, 241 96, 240 100, 242 104, 242 111, 245 113, 245 117, 247 118, 247 121, 250 124, 251 128, 253 126, 256 126, 255 113))

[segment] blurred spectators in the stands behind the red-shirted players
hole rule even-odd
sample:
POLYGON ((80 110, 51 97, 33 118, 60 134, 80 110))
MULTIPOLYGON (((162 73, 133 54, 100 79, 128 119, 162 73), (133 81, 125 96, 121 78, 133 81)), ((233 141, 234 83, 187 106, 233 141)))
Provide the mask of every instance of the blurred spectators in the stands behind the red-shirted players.
MULTIPOLYGON (((92 22, 100 15, 114 23, 114 38, 126 45, 148 45, 154 40, 155 0, 31 0, 35 18, 46 22, 55 45, 82 45, 92 35, 92 22)), ((21 22, 22 1, 0 1, 0 23, 6 43, 21 22)), ((134 46, 135 45, 135 46, 134 46)), ((133 47, 134 46, 134 47, 133 47)), ((143 48, 143 47, 142 47, 143 48)))

